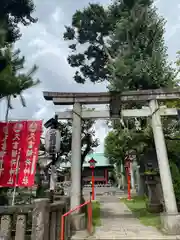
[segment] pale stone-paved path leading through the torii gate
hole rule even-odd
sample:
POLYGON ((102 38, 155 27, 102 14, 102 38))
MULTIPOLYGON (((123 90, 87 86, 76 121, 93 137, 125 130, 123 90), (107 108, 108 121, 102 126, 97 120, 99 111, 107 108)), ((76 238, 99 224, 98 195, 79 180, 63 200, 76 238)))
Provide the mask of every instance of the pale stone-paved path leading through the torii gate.
POLYGON ((114 197, 101 197, 101 226, 90 239, 180 239, 164 236, 155 227, 144 226, 127 206, 114 197))

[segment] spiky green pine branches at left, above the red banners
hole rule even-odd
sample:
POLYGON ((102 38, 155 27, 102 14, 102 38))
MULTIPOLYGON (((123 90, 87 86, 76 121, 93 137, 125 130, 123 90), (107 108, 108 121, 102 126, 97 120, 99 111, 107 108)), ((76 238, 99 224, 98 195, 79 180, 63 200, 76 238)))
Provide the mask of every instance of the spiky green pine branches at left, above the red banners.
POLYGON ((37 66, 34 65, 28 72, 23 71, 25 58, 20 57, 20 50, 13 52, 12 46, 6 47, 4 57, 8 61, 7 67, 0 72, 0 98, 6 97, 7 111, 6 121, 8 120, 9 109, 12 108, 11 98, 20 96, 22 105, 25 107, 25 99, 22 95, 23 91, 39 84, 39 80, 34 80, 33 75, 37 71, 37 66))

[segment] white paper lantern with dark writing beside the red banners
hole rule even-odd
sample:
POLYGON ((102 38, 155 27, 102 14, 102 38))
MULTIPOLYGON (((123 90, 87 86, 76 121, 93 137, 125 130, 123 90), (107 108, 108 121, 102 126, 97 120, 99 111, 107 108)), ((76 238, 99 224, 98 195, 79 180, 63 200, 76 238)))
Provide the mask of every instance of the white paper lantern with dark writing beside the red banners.
POLYGON ((60 152, 61 134, 57 129, 49 129, 45 136, 45 150, 50 155, 60 152))

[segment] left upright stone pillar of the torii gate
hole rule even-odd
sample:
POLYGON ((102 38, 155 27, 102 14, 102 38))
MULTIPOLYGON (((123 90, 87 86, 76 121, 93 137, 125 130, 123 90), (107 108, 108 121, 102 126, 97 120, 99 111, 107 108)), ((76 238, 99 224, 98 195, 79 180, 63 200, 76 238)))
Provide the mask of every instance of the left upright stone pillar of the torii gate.
POLYGON ((73 107, 71 156, 71 209, 81 203, 81 105, 73 107))

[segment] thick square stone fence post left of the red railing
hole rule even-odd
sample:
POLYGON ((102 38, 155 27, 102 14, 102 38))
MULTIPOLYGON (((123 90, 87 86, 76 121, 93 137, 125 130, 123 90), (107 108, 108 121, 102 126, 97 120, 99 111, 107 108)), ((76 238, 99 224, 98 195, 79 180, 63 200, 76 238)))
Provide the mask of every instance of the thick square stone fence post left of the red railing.
POLYGON ((49 239, 49 199, 36 199, 34 201, 31 239, 49 239))

